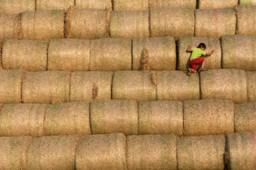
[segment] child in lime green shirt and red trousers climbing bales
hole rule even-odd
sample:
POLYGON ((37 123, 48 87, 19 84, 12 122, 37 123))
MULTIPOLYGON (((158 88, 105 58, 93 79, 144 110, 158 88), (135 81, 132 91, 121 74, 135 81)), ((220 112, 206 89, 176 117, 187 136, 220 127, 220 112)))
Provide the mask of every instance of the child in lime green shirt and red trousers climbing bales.
POLYGON ((191 68, 188 68, 188 76, 191 75, 191 72, 196 73, 197 72, 197 65, 202 62, 202 68, 199 69, 198 72, 200 71, 207 71, 207 68, 204 68, 204 65, 206 63, 206 58, 201 57, 202 55, 212 55, 214 54, 215 50, 212 50, 212 52, 206 53, 204 50, 206 49, 206 45, 204 43, 200 43, 198 45, 198 48, 193 48, 191 49, 192 45, 188 46, 187 51, 191 52, 191 57, 190 57, 190 65, 191 68))

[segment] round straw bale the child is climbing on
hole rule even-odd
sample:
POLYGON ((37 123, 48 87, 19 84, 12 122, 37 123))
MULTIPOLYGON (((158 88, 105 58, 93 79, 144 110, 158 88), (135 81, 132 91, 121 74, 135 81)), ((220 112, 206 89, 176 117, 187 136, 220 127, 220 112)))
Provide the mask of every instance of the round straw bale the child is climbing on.
POLYGON ((190 56, 191 52, 188 52, 188 46, 191 44, 192 47, 197 47, 200 43, 206 44, 206 52, 215 53, 210 56, 204 56, 206 59, 206 64, 204 67, 211 69, 221 68, 221 41, 217 38, 180 38, 178 39, 178 70, 187 71, 190 67, 190 56))

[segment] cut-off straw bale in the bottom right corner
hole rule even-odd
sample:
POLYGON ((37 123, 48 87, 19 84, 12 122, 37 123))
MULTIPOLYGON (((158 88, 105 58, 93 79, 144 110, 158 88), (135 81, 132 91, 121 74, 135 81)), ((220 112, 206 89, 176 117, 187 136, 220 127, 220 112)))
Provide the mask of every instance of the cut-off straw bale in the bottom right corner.
POLYGON ((253 170, 255 164, 255 132, 240 132, 226 135, 228 168, 253 170))

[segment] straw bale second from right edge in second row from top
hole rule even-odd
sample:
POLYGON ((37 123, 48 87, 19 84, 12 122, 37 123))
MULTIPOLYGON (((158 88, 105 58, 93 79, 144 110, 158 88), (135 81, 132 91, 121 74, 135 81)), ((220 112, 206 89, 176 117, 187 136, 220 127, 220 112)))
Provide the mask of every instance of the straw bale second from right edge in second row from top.
POLYGON ((196 9, 195 18, 194 36, 221 38, 235 34, 237 19, 233 8, 196 9))

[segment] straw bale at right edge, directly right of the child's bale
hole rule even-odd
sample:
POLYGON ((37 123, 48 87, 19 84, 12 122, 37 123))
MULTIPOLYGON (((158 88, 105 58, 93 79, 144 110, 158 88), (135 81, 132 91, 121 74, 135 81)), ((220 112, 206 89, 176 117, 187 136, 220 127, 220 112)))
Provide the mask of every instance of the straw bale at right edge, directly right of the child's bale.
POLYGON ((223 35, 222 68, 256 71, 256 36, 223 35))

